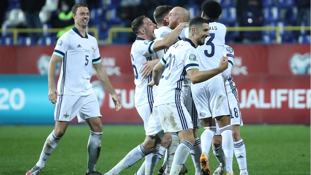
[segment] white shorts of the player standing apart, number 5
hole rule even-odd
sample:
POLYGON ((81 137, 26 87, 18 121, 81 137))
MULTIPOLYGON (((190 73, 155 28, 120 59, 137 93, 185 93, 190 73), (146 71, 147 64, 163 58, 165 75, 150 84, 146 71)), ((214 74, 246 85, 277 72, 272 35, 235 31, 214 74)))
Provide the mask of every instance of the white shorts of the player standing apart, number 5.
POLYGON ((92 117, 102 117, 95 94, 87 96, 60 95, 57 98, 54 110, 55 121, 69 122, 76 116, 79 122, 92 117))

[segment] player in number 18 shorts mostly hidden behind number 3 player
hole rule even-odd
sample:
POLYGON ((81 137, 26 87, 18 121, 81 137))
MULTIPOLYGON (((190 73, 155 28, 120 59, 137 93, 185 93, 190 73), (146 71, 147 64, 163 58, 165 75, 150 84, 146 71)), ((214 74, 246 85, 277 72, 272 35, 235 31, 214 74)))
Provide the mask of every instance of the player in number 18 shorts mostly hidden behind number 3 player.
MULTIPOLYGON (((232 81, 232 77, 231 77, 231 68, 233 65, 234 50, 232 49, 232 47, 225 45, 223 48, 223 55, 228 57, 228 62, 229 62, 228 69, 222 73, 222 76, 225 79, 229 106, 230 106, 230 110, 232 113, 231 129, 232 129, 232 137, 233 137, 234 154, 239 164, 240 175, 248 175, 245 144, 240 135, 240 126, 243 126, 243 121, 241 117, 240 104, 239 104, 239 99, 237 95, 238 90, 236 89, 235 83, 232 81)), ((224 151, 222 150, 222 146, 221 146, 221 135, 220 135, 219 127, 217 127, 217 132, 215 136, 213 137, 212 143, 213 143, 214 155, 220 163, 219 167, 223 167, 225 156, 224 156, 224 151)), ((221 168, 219 167, 216 169, 213 175, 221 174, 222 171, 221 171, 221 168)))

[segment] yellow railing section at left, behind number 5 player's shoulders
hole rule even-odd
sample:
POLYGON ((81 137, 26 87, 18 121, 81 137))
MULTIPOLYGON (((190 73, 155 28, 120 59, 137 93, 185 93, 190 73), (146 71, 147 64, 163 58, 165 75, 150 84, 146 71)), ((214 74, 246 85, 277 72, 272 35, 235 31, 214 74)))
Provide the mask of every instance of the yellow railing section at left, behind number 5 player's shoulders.
MULTIPOLYGON (((13 33, 13 44, 17 45, 17 34, 18 33, 42 33, 42 32, 50 32, 50 33, 57 33, 63 28, 54 28, 54 29, 0 29, 1 32, 13 33)), ((94 33, 94 37, 98 40, 98 31, 96 28, 88 28, 87 32, 94 33)))

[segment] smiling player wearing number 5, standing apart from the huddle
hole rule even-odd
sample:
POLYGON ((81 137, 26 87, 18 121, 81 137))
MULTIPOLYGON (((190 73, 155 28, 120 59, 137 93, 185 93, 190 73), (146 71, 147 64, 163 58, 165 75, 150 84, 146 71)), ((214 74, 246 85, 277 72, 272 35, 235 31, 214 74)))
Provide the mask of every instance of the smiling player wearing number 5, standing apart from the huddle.
POLYGON ((79 122, 86 121, 91 128, 87 145, 88 160, 86 175, 101 175, 95 171, 100 155, 103 125, 100 121, 100 107, 94 94, 90 79, 92 65, 100 82, 110 93, 116 111, 121 109, 121 101, 112 87, 108 75, 100 63, 100 54, 96 39, 86 34, 90 12, 85 3, 72 7, 75 26, 63 34, 54 49, 49 63, 49 100, 56 104, 54 111, 55 128, 46 139, 39 161, 26 175, 37 175, 44 167, 45 161, 57 147, 65 134, 67 126, 75 116, 79 122), (63 60, 57 90, 54 87, 55 67, 63 60), (55 99, 55 94, 59 97, 55 99))

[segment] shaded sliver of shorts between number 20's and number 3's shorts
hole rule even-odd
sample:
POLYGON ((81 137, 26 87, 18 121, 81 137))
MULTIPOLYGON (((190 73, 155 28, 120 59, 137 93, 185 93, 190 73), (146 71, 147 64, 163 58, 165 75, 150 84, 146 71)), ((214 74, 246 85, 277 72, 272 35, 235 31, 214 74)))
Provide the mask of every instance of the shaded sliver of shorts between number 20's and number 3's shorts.
POLYGON ((197 116, 197 108, 195 107, 195 104, 193 102, 190 87, 189 87, 188 94, 186 97, 185 107, 191 116, 193 127, 198 127, 200 129, 202 121, 197 116))

